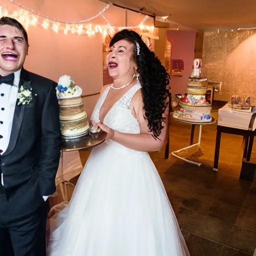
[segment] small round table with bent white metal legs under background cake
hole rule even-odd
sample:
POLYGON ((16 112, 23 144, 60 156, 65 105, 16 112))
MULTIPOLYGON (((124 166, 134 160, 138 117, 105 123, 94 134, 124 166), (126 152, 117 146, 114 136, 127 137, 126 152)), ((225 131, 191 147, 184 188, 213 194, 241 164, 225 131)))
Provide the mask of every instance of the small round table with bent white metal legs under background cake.
POLYGON ((200 142, 201 142, 201 132, 202 132, 202 125, 212 125, 212 124, 216 124, 217 122, 215 121, 215 119, 213 117, 211 117, 211 121, 209 122, 196 122, 196 121, 193 121, 193 120, 188 120, 188 119, 185 119, 185 118, 173 118, 173 120, 175 121, 179 121, 179 122, 184 122, 184 123, 189 123, 189 124, 192 124, 192 129, 191 129, 191 136, 190 136, 190 145, 189 146, 186 146, 186 147, 183 147, 183 148, 180 148, 178 150, 175 150, 175 151, 172 151, 171 154, 183 161, 186 161, 186 162, 189 162, 189 163, 192 163, 192 164, 195 164, 197 166, 200 166, 201 163, 200 162, 195 162, 195 161, 191 161, 191 160, 188 160, 184 157, 181 157, 179 155, 177 155, 176 153, 180 152, 180 151, 183 151, 183 150, 186 150, 188 148, 191 148, 193 146, 197 146, 197 145, 200 145, 200 142), (199 125, 199 135, 198 135, 198 141, 197 143, 195 144, 192 144, 192 137, 193 137, 193 132, 194 132, 194 127, 195 125, 199 125))

